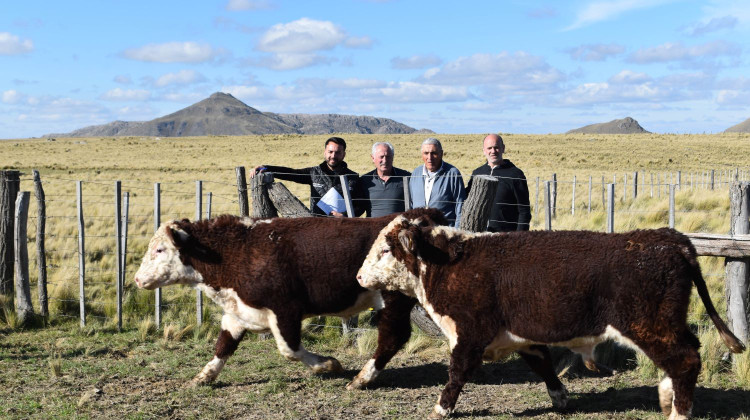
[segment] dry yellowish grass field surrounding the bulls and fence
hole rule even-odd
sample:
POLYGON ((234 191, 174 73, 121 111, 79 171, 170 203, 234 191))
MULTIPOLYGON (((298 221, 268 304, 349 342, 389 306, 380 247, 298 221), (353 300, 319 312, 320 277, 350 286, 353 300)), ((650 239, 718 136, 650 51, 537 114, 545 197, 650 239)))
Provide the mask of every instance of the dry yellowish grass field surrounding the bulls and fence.
MULTIPOLYGON (((399 356, 382 387, 370 393, 343 392, 346 379, 364 363, 369 348, 355 348, 336 334, 306 334, 310 346, 342 355, 350 371, 320 378, 301 365, 287 363, 273 343, 248 339, 227 375, 214 387, 181 390, 180 384, 208 360, 217 332, 217 308, 206 303, 205 323, 195 325, 192 290, 164 290, 164 326, 153 324, 153 292, 137 290, 131 281, 154 229, 154 183, 160 183, 161 220, 191 218, 196 213, 196 181, 202 181, 203 212, 207 194, 211 213, 237 213, 236 166, 260 164, 290 167, 322 161, 328 136, 243 136, 207 138, 86 138, 0 141, 0 169, 22 172, 21 189, 32 191, 29 256, 36 305, 37 221, 31 170, 37 169, 47 202, 48 270, 52 328, 19 329, 11 307, 0 314, 0 416, 10 418, 421 418, 447 378, 447 355, 440 343, 412 342, 414 350, 399 356), (114 182, 129 192, 129 237, 124 332, 115 324, 114 182), (86 230, 87 323, 78 330, 76 181, 82 181, 86 230), (246 346, 246 347, 244 347, 246 346), (244 350, 243 350, 244 349, 244 350), (442 349, 442 350, 441 350, 442 349), (257 360, 258 355, 262 360, 257 360), (409 377, 402 383, 402 377, 409 377), (144 388, 145 387, 145 388, 144 388), (86 394, 92 389, 100 393, 86 394), (154 392, 149 392, 153 389, 154 392), (245 394, 239 397, 237 393, 245 394), (87 397, 88 395, 88 397, 87 397), (212 404, 219 398, 226 406, 212 404), (404 399, 405 398, 405 399, 404 399), (81 402, 83 401, 83 402, 81 402), (118 411, 118 407, 122 411, 118 411), (228 408, 227 408, 228 407, 228 408), (258 410, 258 411, 256 411, 258 410), (369 411, 368 411, 369 410, 369 411), (347 414, 348 413, 348 414, 347 414), (362 413, 365 413, 364 415, 362 413)), ((372 169, 370 147, 390 141, 395 165, 407 170, 421 164, 419 145, 425 135, 343 135, 346 161, 356 172, 372 169)), ((483 163, 483 135, 436 135, 445 160, 465 181, 483 163)), ((558 209, 553 229, 604 230, 606 220, 601 179, 616 180, 615 230, 668 224, 665 185, 682 173, 677 193, 676 228, 685 232, 725 233, 729 226, 727 181, 739 169, 750 169, 750 135, 504 135, 505 157, 526 174, 531 191, 532 229, 544 227, 544 212, 535 200, 537 177, 558 179, 558 209), (716 187, 706 188, 714 170, 716 187), (639 173, 639 195, 632 198, 632 176, 639 173), (628 186, 623 189, 623 177, 628 186), (573 177, 576 207, 571 214, 573 177), (650 184, 651 177, 659 185, 650 184), (591 212, 588 180, 593 179, 591 212), (690 181, 693 185, 690 186, 690 181), (537 213, 538 211, 538 213, 537 213)), ((747 179, 747 178, 745 178, 747 179)), ((285 183, 304 203, 307 186, 285 183)), ((543 185, 543 184, 542 184, 543 185)), ((540 185, 540 187, 542 187, 540 185)), ((701 258, 714 302, 723 313, 724 269, 721 258, 701 258)), ((750 357, 733 366, 721 362, 725 349, 706 324, 700 302, 691 305, 690 322, 703 343, 703 373, 697 393, 700 418, 750 416, 750 357), (704 403, 701 404, 700 400, 704 403)), ((415 340, 424 340, 417 336, 415 340)), ((571 378, 571 412, 555 413, 533 375, 517 361, 490 364, 459 399, 458 416, 468 418, 658 418, 655 384, 658 373, 639 357, 638 366, 615 378, 571 378), (487 372, 492 372, 488 374, 487 372), (503 373, 505 372, 505 373, 503 373), (509 372, 509 373, 508 373, 509 372), (499 376, 493 376, 493 375, 499 376), (505 376, 504 376, 505 375, 505 376), (502 384, 502 385, 501 385, 502 384), (611 403, 611 405, 610 405, 611 403), (476 405, 474 405, 476 404, 476 405)))

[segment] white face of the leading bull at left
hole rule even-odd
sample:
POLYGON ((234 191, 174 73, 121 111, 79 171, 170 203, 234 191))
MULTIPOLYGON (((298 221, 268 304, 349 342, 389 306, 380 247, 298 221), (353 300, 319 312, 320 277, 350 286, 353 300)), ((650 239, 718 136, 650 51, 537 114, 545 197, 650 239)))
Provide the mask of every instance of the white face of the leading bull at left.
POLYGON ((200 273, 180 261, 180 250, 167 235, 167 229, 173 229, 175 235, 187 235, 173 222, 164 223, 159 227, 148 244, 148 250, 143 256, 138 272, 135 273, 135 284, 142 289, 151 290, 170 284, 196 285, 203 282, 200 273))

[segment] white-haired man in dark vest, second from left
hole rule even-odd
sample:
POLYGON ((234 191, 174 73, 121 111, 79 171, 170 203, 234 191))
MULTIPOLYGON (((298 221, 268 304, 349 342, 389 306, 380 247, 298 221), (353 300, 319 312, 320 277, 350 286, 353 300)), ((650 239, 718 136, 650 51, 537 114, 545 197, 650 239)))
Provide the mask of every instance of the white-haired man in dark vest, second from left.
POLYGON ((393 145, 377 142, 372 145, 375 169, 362 175, 357 182, 358 199, 354 203, 357 216, 380 217, 402 212, 404 206, 404 177, 409 172, 393 166, 393 145))

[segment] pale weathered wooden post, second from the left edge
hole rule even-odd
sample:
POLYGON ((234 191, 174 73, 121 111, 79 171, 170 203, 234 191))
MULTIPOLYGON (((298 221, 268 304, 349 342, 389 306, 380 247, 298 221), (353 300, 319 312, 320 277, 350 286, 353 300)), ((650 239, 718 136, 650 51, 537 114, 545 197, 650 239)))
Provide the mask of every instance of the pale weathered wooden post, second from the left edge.
POLYGON ((31 288, 29 286, 29 251, 27 248, 26 222, 29 217, 29 196, 31 193, 22 191, 16 199, 15 224, 13 228, 15 239, 16 266, 16 314, 21 325, 31 321, 34 308, 31 306, 31 288))

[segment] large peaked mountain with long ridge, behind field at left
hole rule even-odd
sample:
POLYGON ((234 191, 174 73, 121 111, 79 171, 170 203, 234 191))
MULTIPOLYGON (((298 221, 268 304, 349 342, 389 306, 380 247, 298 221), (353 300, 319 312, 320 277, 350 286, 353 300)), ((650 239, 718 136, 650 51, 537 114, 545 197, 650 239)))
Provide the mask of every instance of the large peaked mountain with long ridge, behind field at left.
POLYGON ((409 134, 415 130, 388 118, 338 114, 261 112, 228 93, 210 97, 151 121, 114 121, 43 137, 211 136, 248 134, 409 134))

